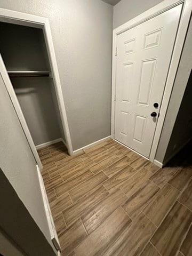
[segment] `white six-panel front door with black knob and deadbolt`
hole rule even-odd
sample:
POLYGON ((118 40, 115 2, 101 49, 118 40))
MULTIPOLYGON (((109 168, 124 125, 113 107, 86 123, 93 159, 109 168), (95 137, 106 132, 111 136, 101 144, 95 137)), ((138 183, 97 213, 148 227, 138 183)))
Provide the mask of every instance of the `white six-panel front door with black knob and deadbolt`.
POLYGON ((117 36, 115 139, 146 157, 153 143, 181 8, 180 4, 117 36))

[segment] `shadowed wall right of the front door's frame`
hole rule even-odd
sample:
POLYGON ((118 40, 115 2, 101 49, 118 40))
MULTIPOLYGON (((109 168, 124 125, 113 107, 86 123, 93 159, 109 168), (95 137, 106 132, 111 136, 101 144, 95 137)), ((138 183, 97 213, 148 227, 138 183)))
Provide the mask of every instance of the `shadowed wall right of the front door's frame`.
POLYGON ((192 21, 183 47, 171 99, 165 116, 155 159, 161 163, 178 151, 192 136, 191 78, 192 21), (185 93, 185 94, 184 94, 185 93), (184 95, 184 96, 183 96, 184 95))

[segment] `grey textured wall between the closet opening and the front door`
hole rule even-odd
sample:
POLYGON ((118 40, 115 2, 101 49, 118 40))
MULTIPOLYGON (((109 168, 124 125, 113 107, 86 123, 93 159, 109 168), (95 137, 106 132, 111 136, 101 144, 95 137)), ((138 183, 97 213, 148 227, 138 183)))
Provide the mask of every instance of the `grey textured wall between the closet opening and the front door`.
POLYGON ((113 6, 100 0, 1 0, 49 18, 73 149, 110 135, 113 6))

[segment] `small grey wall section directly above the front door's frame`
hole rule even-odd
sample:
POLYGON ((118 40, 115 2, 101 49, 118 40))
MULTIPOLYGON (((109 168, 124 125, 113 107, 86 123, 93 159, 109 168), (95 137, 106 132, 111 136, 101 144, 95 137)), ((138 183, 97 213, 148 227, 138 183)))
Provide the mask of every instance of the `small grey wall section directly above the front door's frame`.
POLYGON ((163 0, 121 0, 114 6, 113 28, 133 19, 163 0))

